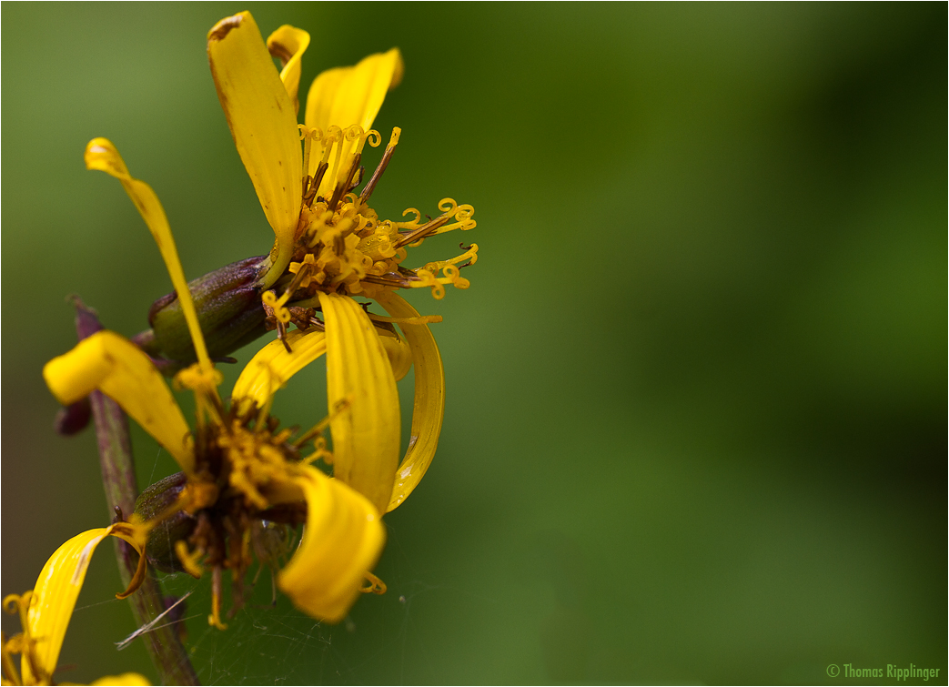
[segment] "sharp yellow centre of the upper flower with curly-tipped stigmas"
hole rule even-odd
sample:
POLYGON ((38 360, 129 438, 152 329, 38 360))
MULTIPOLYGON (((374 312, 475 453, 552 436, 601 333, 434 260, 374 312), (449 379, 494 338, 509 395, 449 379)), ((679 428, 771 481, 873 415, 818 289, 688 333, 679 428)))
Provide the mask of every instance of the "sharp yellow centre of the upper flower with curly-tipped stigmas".
POLYGON ((477 261, 476 244, 462 245, 464 252, 456 257, 415 269, 402 267, 402 262, 408 257, 406 249, 421 245, 426 238, 456 229, 474 229, 471 205, 443 198, 438 203, 441 214, 435 219, 426 217, 423 221, 419 210, 409 208, 402 216, 414 216, 400 222, 381 220, 368 205, 399 143, 398 127, 393 129, 381 162, 360 195, 354 192, 362 183, 363 147, 366 142, 378 146, 379 132, 364 132, 359 125, 345 130, 330 126, 323 132, 302 124, 300 131, 304 169, 312 173, 303 179, 303 207, 288 272, 263 298, 275 326, 286 326, 291 319, 300 325, 298 317, 303 317, 302 328, 318 324, 318 320, 308 322, 312 313, 292 311, 293 307, 318 306, 318 291, 375 298, 386 289, 431 288, 432 295, 440 299, 446 285, 470 286, 460 270, 477 261))

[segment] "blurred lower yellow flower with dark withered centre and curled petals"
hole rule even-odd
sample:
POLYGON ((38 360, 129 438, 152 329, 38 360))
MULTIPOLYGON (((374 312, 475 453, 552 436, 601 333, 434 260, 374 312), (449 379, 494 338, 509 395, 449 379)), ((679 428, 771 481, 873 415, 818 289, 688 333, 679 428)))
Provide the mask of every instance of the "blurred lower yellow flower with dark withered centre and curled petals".
MULTIPOLYGON (((145 184, 136 183, 139 199, 154 197, 145 184)), ((174 251, 171 233, 164 236, 174 251)), ((177 265, 169 267, 173 274, 177 271, 177 265)), ((186 289, 179 293, 183 303, 190 301, 186 289)), ((293 332, 292 353, 279 342, 265 346, 237 383, 237 389, 247 391, 237 391, 231 403, 217 394, 220 375, 207 358, 200 331, 193 330, 193 335, 204 362, 183 370, 176 381, 195 392, 194 434, 148 356, 114 332, 100 331, 47 362, 44 377, 63 403, 102 391, 175 457, 186 478, 183 488, 171 495, 166 508, 148 513, 150 518, 135 527, 154 535, 179 513, 190 516, 190 536, 172 545, 181 566, 195 577, 202 574, 202 563, 212 568, 209 622, 225 626, 220 620, 224 569, 233 573, 235 608, 243 603, 251 550, 266 546, 257 541, 266 534, 261 521, 274 520, 307 526, 300 548, 278 575, 278 585, 314 618, 339 622, 363 579, 375 580, 366 573, 385 541, 380 512, 361 493, 310 465, 318 458, 332 460, 321 436, 326 422, 291 440, 292 431, 278 431, 269 414, 272 391, 325 349, 325 334, 293 332), (313 451, 304 455, 310 441, 313 451)))

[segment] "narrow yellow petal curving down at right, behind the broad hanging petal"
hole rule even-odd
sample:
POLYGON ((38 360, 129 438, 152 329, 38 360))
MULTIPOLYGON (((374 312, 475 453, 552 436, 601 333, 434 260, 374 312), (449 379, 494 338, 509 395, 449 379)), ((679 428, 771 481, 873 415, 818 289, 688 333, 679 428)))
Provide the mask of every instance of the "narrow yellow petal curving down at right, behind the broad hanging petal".
MULTIPOLYGON (((419 317, 419 312, 395 293, 376 299, 392 317, 419 317)), ((421 481, 435 457, 441 420, 445 415, 445 371, 435 337, 428 325, 400 325, 412 349, 415 362, 415 408, 412 411, 412 436, 409 448, 396 471, 395 486, 386 511, 404 501, 421 481)))

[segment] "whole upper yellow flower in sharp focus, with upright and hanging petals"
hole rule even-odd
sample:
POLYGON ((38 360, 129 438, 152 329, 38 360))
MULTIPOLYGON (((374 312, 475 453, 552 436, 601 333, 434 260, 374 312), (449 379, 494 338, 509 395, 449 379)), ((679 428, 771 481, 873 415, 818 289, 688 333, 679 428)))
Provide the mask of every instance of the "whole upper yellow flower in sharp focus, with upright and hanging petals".
POLYGON ((414 214, 411 221, 379 219, 367 203, 392 158, 398 128, 362 194, 350 193, 360 182, 364 144, 381 142, 370 127, 386 92, 401 80, 401 55, 393 48, 320 74, 307 95, 306 124, 298 125, 300 61, 308 45, 309 34, 289 26, 270 34, 265 45, 250 12, 241 12, 211 29, 208 57, 237 151, 276 235, 261 277, 263 288, 273 288, 263 294, 264 306, 282 340, 290 323, 303 330, 325 326, 329 407, 347 400, 351 406, 331 421, 334 473, 386 511, 428 467, 444 402, 441 360, 426 326, 438 318, 419 318, 394 290, 426 287, 441 298, 446 284, 467 288, 458 264, 474 264, 477 246, 419 269, 400 263, 406 247, 426 237, 474 228, 474 209, 444 198, 438 204, 442 214, 427 222, 414 208, 403 213, 414 214), (279 75, 271 54, 284 63, 279 75), (352 305, 354 295, 374 299, 390 317, 366 314, 352 305), (322 309, 325 323, 316 319, 314 306, 322 309), (393 323, 401 326, 408 351, 391 336, 393 323), (389 331, 380 331, 386 325, 389 331), (395 492, 399 400, 384 363, 386 351, 401 360, 399 377, 410 359, 416 365, 412 448, 398 469, 395 492))

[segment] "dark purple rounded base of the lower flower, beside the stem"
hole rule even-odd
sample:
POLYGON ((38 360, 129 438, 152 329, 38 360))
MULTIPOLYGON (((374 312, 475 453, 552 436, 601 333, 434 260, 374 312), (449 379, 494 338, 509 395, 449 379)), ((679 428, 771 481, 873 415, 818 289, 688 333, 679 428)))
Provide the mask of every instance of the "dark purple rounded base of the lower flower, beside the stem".
MULTIPOLYGON (((135 512, 143 520, 151 520, 175 503, 187 483, 188 478, 184 473, 170 474, 158 480, 139 494, 135 500, 135 512)), ((185 511, 177 511, 158 523, 151 531, 148 546, 145 547, 148 562, 162 572, 183 572, 184 567, 175 553, 175 542, 190 537, 196 524, 195 517, 185 511)))

